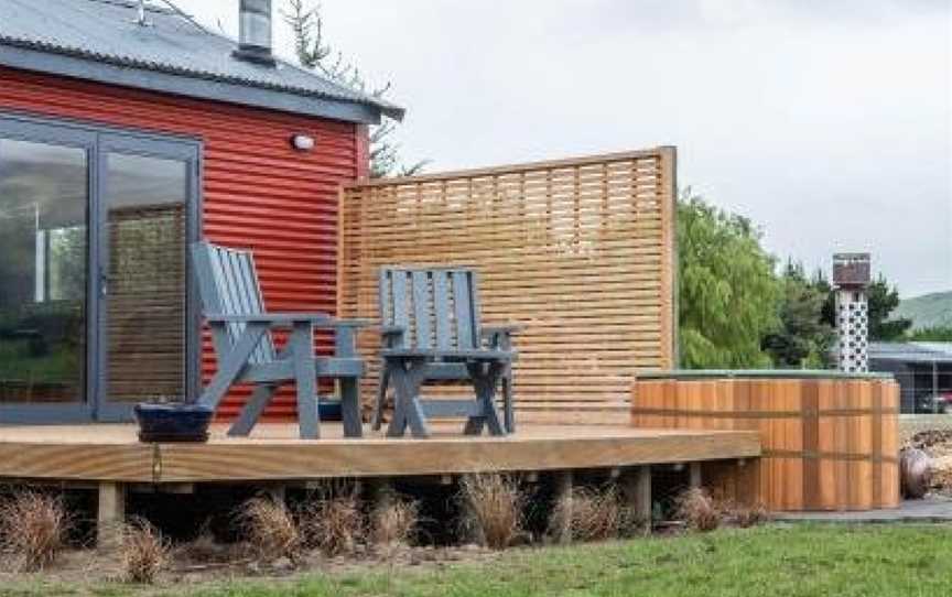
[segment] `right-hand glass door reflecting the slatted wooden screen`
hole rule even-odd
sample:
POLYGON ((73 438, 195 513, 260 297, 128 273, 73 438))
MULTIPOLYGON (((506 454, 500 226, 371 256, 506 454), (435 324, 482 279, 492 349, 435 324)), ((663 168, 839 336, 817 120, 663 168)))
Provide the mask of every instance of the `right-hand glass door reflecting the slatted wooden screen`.
POLYGON ((187 393, 188 206, 197 148, 104 135, 99 144, 105 338, 100 419, 187 393))

